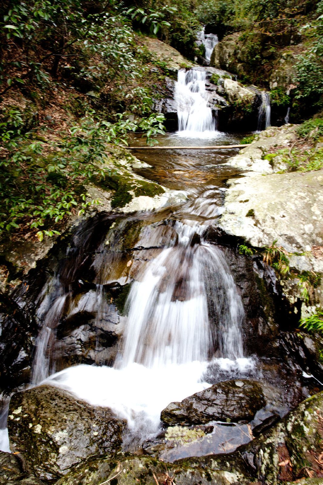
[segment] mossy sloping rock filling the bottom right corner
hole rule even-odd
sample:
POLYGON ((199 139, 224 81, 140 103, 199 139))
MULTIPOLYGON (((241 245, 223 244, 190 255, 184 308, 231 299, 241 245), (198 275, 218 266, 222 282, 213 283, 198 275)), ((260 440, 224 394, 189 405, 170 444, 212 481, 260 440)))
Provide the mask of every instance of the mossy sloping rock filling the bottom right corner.
POLYGON ((236 452, 178 460, 176 465, 180 467, 185 463, 185 466, 196 469, 235 471, 244 477, 258 479, 263 485, 295 483, 296 478, 300 480, 297 484, 321 484, 322 412, 323 392, 320 392, 299 404, 265 435, 241 446, 236 452), (309 481, 308 470, 313 481, 309 481))

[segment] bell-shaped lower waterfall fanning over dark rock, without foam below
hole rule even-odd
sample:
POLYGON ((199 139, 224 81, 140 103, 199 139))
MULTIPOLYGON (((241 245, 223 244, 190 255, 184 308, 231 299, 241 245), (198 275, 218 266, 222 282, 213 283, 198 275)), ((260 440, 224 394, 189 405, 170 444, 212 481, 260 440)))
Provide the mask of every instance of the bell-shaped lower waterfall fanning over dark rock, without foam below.
POLYGON ((203 226, 177 222, 175 228, 178 245, 164 249, 132 285, 122 365, 205 361, 215 345, 219 357, 243 356, 244 311, 223 253, 211 244, 192 242, 203 226))

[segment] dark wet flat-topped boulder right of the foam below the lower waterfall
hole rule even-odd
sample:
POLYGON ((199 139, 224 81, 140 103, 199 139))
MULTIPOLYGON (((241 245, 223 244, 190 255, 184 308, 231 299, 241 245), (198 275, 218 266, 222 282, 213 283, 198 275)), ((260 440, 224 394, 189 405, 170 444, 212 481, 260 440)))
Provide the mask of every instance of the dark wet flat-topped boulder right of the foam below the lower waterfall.
POLYGON ((196 392, 161 411, 169 424, 204 424, 212 420, 248 422, 265 404, 261 387, 254 381, 225 381, 196 392))

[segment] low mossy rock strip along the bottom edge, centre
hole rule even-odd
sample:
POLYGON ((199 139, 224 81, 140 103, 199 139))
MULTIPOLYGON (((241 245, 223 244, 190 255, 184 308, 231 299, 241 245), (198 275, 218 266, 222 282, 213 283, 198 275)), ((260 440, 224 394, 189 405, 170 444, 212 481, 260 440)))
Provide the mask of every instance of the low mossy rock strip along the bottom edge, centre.
POLYGON ((149 457, 91 459, 71 470, 56 485, 252 485, 257 480, 239 472, 194 469, 185 464, 173 466, 149 457))

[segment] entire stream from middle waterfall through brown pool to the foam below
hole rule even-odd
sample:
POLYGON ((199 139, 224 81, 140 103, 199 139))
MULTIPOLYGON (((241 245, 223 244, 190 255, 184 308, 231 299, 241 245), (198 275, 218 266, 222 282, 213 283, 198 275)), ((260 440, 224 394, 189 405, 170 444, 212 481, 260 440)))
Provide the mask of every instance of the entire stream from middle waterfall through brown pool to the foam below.
MULTIPOLYGON (((161 138, 161 144, 230 145, 242 138, 243 134, 216 130, 203 69, 178 72, 175 98, 178 132, 161 138)), ((266 106, 263 113, 269 123, 266 106)), ((134 143, 140 145, 142 140, 134 138, 134 143)), ((181 190, 186 201, 156 214, 135 214, 109 223, 106 236, 104 218, 93 221, 83 232, 81 226, 55 276, 36 301, 42 325, 36 340, 32 386, 48 382, 91 404, 111 407, 128 420, 128 444, 137 440, 140 446, 146 438, 155 436, 161 429, 161 410, 170 402, 181 401, 213 382, 255 372, 256 361, 244 350, 246 317, 240 290, 223 248, 207 239, 209 229, 216 226, 223 212, 226 180, 239 176, 236 169, 225 164, 237 152, 135 152, 149 164, 137 170, 140 175, 181 190), (131 236, 128 224, 134 220, 145 224, 130 245, 129 259, 129 252, 125 255, 122 248, 124 238, 131 236), (88 270, 91 276, 83 278, 80 268, 90 257, 86 244, 91 238, 95 240, 96 234, 103 239, 94 246, 97 249, 88 270), (117 331, 116 307, 113 298, 110 301, 107 296, 107 288, 129 283, 125 316, 120 317, 117 331), (90 285, 90 290, 74 298, 75 288, 79 291, 84 285, 90 285), (112 366, 57 365, 57 355, 62 354, 57 329, 62 322, 66 326, 74 316, 77 318, 80 311, 95 315, 97 331, 103 328, 118 339, 116 355, 98 360, 100 364, 112 361, 112 366)), ((78 338, 82 339, 82 334, 78 338)), ((105 342, 96 335, 94 351, 105 355, 106 350, 105 342)), ((219 427, 217 430, 220 433, 219 427)), ((2 438, 2 446, 7 447, 7 435, 3 433, 2 438)), ((210 446, 204 444, 201 450, 206 447, 210 453, 210 446)))

